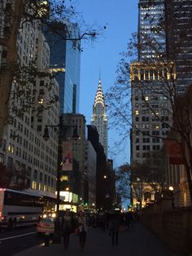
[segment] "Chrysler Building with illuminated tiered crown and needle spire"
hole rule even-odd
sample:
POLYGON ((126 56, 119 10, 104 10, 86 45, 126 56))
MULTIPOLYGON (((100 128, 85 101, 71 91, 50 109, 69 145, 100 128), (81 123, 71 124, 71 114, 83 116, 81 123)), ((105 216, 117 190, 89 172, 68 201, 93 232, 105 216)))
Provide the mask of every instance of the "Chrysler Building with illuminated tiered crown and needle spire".
POLYGON ((107 157, 107 109, 104 102, 101 79, 99 78, 98 90, 94 98, 93 115, 91 117, 91 126, 95 126, 98 130, 99 142, 103 145, 104 152, 107 157))

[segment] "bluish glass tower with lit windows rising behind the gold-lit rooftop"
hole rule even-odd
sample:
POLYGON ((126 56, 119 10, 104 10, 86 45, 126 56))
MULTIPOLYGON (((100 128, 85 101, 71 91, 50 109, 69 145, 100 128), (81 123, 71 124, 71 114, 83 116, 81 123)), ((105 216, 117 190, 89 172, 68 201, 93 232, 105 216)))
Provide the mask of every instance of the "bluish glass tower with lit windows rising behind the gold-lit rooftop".
POLYGON ((138 60, 151 61, 165 53, 164 0, 140 0, 138 4, 138 60))

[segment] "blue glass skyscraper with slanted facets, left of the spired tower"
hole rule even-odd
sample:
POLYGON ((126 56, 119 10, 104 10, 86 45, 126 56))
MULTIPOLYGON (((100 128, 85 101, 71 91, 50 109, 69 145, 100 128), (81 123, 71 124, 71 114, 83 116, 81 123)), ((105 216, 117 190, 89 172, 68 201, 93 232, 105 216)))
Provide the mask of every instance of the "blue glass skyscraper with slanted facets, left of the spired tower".
POLYGON ((60 115, 79 112, 81 43, 69 38, 80 38, 77 24, 67 20, 60 29, 46 26, 44 33, 50 46, 50 68, 59 82, 60 115), (67 38, 65 40, 65 38, 67 38))

